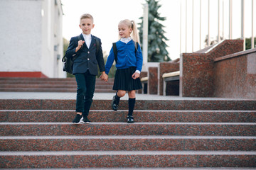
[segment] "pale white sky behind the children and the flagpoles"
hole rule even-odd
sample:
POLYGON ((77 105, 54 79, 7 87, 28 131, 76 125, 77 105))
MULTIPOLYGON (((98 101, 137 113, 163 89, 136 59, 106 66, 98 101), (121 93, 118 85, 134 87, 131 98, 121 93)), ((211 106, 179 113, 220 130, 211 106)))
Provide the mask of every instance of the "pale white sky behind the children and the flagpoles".
MULTIPOLYGON (((245 37, 252 35, 251 3, 256 0, 245 0, 245 37)), ((70 40, 71 37, 79 35, 82 31, 79 28, 80 16, 83 13, 90 13, 94 18, 95 28, 92 35, 102 40, 102 50, 107 54, 110 52, 112 42, 118 40, 117 26, 119 21, 124 19, 134 20, 141 23, 140 17, 143 16, 143 4, 145 0, 61 0, 63 4, 63 37, 70 40)), ((199 0, 194 0, 194 10, 192 15, 192 0, 188 0, 187 25, 185 18, 186 0, 159 0, 161 7, 159 14, 166 17, 161 22, 165 27, 166 44, 169 46, 169 57, 175 60, 180 57, 181 52, 192 52, 200 50, 199 34, 199 0), (180 22, 180 13, 182 22, 180 22), (192 23, 193 16, 193 23, 192 23), (181 29, 180 29, 181 26, 181 29), (193 26, 193 27, 192 27, 193 26), (186 29, 187 28, 187 38, 186 29), (192 39, 193 28, 193 39, 192 39), (180 32, 181 30, 181 32, 180 32), (181 33, 181 34, 180 34, 181 33), (187 42, 186 42, 187 39, 187 42), (181 45, 180 45, 181 42, 181 45), (192 45, 193 43, 193 45, 192 45), (193 49, 192 49, 193 48, 193 49)), ((228 0, 220 0, 220 35, 228 38, 228 0), (224 16, 223 16, 224 11, 224 16), (224 22, 223 22, 224 20, 224 22), (224 31, 223 31, 224 24, 224 31)), ((233 39, 240 38, 241 35, 241 15, 240 0, 233 0, 233 39)), ((256 13, 256 11, 254 12, 256 13)), ((208 1, 202 0, 202 23, 201 23, 201 48, 204 47, 204 40, 208 35, 208 1)), ((256 16, 254 15, 254 18, 256 16)), ((256 22, 256 21, 255 21, 256 22)), ((255 24, 254 24, 255 26, 255 24)), ((255 27, 254 27, 255 28, 255 27)), ((256 30, 256 29, 255 29, 256 30)), ((256 31, 254 31, 256 34, 256 31)), ((210 0, 210 38, 216 39, 218 35, 218 1, 210 0)))

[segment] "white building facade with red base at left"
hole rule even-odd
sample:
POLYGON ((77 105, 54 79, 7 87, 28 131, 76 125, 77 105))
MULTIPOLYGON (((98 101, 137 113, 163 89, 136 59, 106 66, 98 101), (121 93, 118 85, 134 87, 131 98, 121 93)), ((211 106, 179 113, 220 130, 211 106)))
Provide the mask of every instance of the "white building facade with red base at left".
POLYGON ((0 77, 66 77, 60 0, 0 0, 0 77))

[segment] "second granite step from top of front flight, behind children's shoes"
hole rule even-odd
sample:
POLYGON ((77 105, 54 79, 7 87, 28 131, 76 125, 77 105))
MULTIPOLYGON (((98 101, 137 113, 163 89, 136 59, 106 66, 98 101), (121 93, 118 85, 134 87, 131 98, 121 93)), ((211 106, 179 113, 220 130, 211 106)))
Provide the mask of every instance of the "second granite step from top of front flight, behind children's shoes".
MULTIPOLYGON (((125 122, 128 110, 90 110, 92 122, 125 122)), ((75 110, 0 110, 0 122, 71 122, 75 110)), ((256 111, 135 110, 137 122, 255 123, 256 111)))

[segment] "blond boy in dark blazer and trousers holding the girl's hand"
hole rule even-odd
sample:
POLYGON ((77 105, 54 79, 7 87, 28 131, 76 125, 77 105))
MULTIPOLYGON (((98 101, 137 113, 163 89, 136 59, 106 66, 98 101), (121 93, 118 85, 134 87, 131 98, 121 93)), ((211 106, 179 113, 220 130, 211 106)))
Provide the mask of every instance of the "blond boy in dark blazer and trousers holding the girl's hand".
POLYGON ((105 75, 105 64, 103 60, 100 38, 91 35, 94 28, 93 18, 85 13, 80 17, 79 27, 82 30, 80 39, 73 37, 66 51, 67 57, 76 57, 73 62, 73 74, 78 84, 76 98, 76 113, 73 123, 90 123, 87 115, 92 104, 92 97, 95 91, 95 80, 98 74, 97 65, 100 72, 105 75), (96 39, 99 41, 99 49, 96 51, 96 39))

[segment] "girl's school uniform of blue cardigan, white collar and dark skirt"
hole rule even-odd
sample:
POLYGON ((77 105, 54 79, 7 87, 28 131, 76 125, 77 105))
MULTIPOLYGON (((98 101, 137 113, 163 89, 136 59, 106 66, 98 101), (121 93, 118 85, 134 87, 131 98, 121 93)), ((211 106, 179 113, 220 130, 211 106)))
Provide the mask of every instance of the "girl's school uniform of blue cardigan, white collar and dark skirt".
MULTIPOLYGON (((121 38, 116 42, 117 45, 117 71, 114 76, 113 90, 132 91, 142 89, 140 79, 132 79, 134 72, 142 71, 142 49, 138 45, 135 49, 135 43, 132 38, 121 38)), ((110 50, 110 55, 107 57, 105 64, 105 72, 108 74, 114 62, 113 47, 110 50)))

